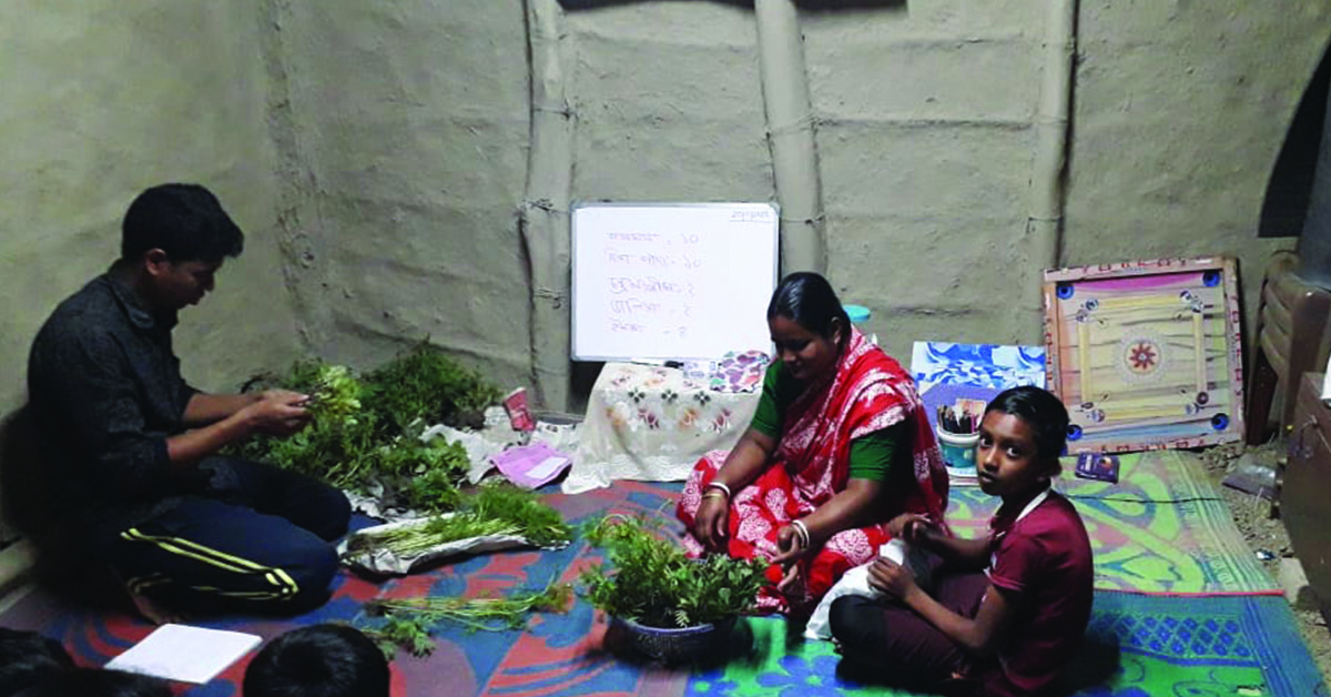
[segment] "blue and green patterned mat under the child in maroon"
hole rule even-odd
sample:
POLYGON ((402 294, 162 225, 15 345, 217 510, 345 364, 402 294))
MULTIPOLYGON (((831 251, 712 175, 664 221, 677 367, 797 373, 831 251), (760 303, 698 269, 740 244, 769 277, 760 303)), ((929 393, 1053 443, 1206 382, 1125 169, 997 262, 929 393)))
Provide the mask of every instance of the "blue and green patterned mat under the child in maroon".
MULTIPOLYGON (((804 642, 797 633, 792 640, 787 629, 780 618, 751 618, 737 629, 751 650, 725 668, 692 676, 685 696, 914 694, 845 677, 831 644, 804 642)), ((1117 646, 1118 656, 1082 664, 1098 665, 1106 677, 1078 689, 1079 697, 1327 694, 1283 597, 1097 590, 1087 637, 1090 650, 1117 646)))

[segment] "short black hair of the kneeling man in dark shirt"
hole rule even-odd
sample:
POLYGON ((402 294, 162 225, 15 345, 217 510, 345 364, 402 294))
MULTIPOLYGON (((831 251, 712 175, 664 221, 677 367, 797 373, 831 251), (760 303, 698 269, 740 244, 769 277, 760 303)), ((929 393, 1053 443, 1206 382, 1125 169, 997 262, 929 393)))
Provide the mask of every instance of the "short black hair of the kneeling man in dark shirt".
POLYGON ((128 260, 161 249, 172 261, 221 261, 244 248, 245 235, 198 184, 162 184, 140 193, 121 225, 120 257, 128 260))

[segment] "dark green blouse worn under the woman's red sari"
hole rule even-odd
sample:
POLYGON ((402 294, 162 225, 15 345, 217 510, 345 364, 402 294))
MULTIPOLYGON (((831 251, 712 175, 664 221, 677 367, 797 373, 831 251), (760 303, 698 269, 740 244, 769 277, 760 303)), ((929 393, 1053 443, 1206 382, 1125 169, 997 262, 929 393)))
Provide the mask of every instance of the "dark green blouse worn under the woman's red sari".
MULTIPOLYGON (((772 361, 763 378, 763 396, 749 428, 772 438, 781 437, 781 424, 785 409, 800 396, 804 384, 791 376, 781 361, 772 361)), ((888 428, 874 430, 851 441, 851 477, 872 481, 888 481, 893 462, 910 458, 910 448, 904 448, 910 433, 906 422, 898 421, 888 428)), ((898 468, 910 472, 912 464, 897 462, 898 468)))

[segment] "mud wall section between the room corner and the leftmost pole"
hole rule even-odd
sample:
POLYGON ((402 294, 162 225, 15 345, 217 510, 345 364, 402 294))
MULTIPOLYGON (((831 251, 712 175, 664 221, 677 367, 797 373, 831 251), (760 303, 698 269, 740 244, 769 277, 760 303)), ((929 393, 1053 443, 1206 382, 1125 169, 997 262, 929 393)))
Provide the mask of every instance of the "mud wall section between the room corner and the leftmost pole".
POLYGON ((309 350, 367 369, 426 336, 527 382, 520 0, 274 3, 309 350))

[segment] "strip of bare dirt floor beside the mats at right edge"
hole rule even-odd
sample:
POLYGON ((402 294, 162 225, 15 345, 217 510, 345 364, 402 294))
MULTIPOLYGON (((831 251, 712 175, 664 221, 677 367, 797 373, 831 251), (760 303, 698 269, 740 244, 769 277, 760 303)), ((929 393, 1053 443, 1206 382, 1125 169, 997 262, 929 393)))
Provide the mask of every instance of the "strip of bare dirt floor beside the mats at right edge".
MULTIPOLYGON (((1282 573, 1282 560, 1295 558, 1284 524, 1279 518, 1271 517, 1270 501, 1222 485, 1225 477, 1234 470, 1244 453, 1248 454, 1247 461, 1276 466, 1283 464, 1284 442, 1272 442, 1259 448, 1244 448, 1240 444, 1221 445, 1203 450, 1202 458, 1211 481, 1229 502, 1230 510, 1234 512, 1234 522, 1238 524, 1252 553, 1263 560, 1262 564, 1272 578, 1283 582, 1290 572, 1286 569, 1282 573)), ((1290 593, 1286 593, 1286 597, 1288 596, 1290 593)), ((1331 685, 1331 632, 1327 630, 1327 622, 1318 610, 1312 589, 1304 586, 1291 602, 1291 609, 1299 632, 1303 633, 1303 641, 1308 645, 1312 660, 1322 670, 1323 682, 1331 685)))

